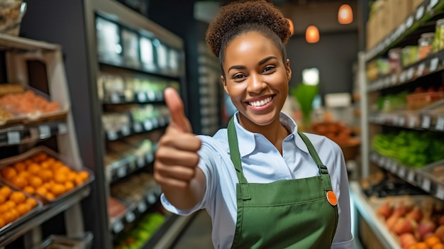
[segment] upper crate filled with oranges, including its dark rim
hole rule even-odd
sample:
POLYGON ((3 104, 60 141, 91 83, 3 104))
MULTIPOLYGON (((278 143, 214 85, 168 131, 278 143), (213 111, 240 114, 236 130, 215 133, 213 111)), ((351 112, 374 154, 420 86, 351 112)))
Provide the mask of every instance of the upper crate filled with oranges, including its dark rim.
POLYGON ((73 166, 62 155, 39 146, 0 160, 0 179, 48 204, 73 194, 94 179, 86 168, 76 170, 73 166))

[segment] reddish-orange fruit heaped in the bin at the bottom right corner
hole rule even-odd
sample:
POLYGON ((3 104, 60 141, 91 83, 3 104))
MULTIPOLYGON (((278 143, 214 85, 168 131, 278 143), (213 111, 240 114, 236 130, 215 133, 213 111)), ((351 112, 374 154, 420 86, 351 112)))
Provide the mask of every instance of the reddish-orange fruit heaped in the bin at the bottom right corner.
POLYGON ((403 249, 444 248, 444 204, 429 196, 375 201, 377 216, 403 249))

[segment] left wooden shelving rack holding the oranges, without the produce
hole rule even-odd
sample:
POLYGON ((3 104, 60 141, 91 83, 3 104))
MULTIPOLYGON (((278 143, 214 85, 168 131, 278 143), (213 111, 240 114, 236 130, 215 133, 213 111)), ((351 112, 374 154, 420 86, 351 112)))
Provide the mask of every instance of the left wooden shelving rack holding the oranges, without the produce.
MULTIPOLYGON (((62 60, 62 48, 60 45, 46 43, 38 40, 20 38, 0 33, 0 50, 4 52, 7 80, 25 86, 43 87, 48 90, 52 101, 61 106, 70 106, 68 83, 65 77, 65 65, 62 60), (29 61, 38 60, 44 67, 35 69, 29 65, 29 61), (38 70, 46 75, 46 80, 35 79, 33 72, 38 70), (39 84, 35 84, 38 80, 39 84)), ((2 159, 20 153, 26 153, 35 145, 47 145, 70 162, 74 170, 82 170, 83 163, 79 157, 77 136, 72 120, 72 112, 68 108, 64 115, 48 116, 17 123, 6 123, 0 127, 0 146, 2 149, 16 148, 15 154, 2 156, 2 159)), ((91 175, 94 179, 94 175, 91 175)), ((49 204, 33 211, 23 219, 13 221, 0 232, 0 247, 12 248, 14 246, 26 246, 30 248, 43 241, 45 234, 45 222, 55 216, 63 214, 64 222, 57 228, 66 236, 82 236, 85 234, 83 214, 80 204, 89 197, 91 182, 74 189, 67 196, 52 201, 49 204), (20 241, 18 241, 20 240, 20 241), (11 243, 14 243, 11 245, 11 243)))

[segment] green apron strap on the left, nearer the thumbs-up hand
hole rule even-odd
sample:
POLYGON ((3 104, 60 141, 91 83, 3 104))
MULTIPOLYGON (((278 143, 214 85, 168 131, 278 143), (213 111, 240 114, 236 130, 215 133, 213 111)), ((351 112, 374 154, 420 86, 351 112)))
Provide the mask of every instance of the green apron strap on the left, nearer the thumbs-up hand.
POLYGON ((247 179, 245 179, 242 170, 242 163, 240 160, 239 145, 238 145, 238 135, 236 133, 236 128, 234 126, 233 116, 228 122, 228 145, 230 146, 230 157, 233 162, 234 168, 236 170, 236 175, 238 175, 239 180, 239 191, 242 192, 243 199, 251 199, 250 189, 248 187, 247 179))

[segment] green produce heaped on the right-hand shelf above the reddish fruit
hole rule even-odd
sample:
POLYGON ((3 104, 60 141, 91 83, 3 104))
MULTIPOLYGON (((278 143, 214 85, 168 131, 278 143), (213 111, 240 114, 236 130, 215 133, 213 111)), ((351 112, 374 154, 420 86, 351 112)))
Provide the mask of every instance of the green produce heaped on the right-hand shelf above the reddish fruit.
POLYGON ((398 160, 408 167, 423 167, 444 158, 444 139, 426 131, 379 133, 372 141, 380 155, 398 160))

